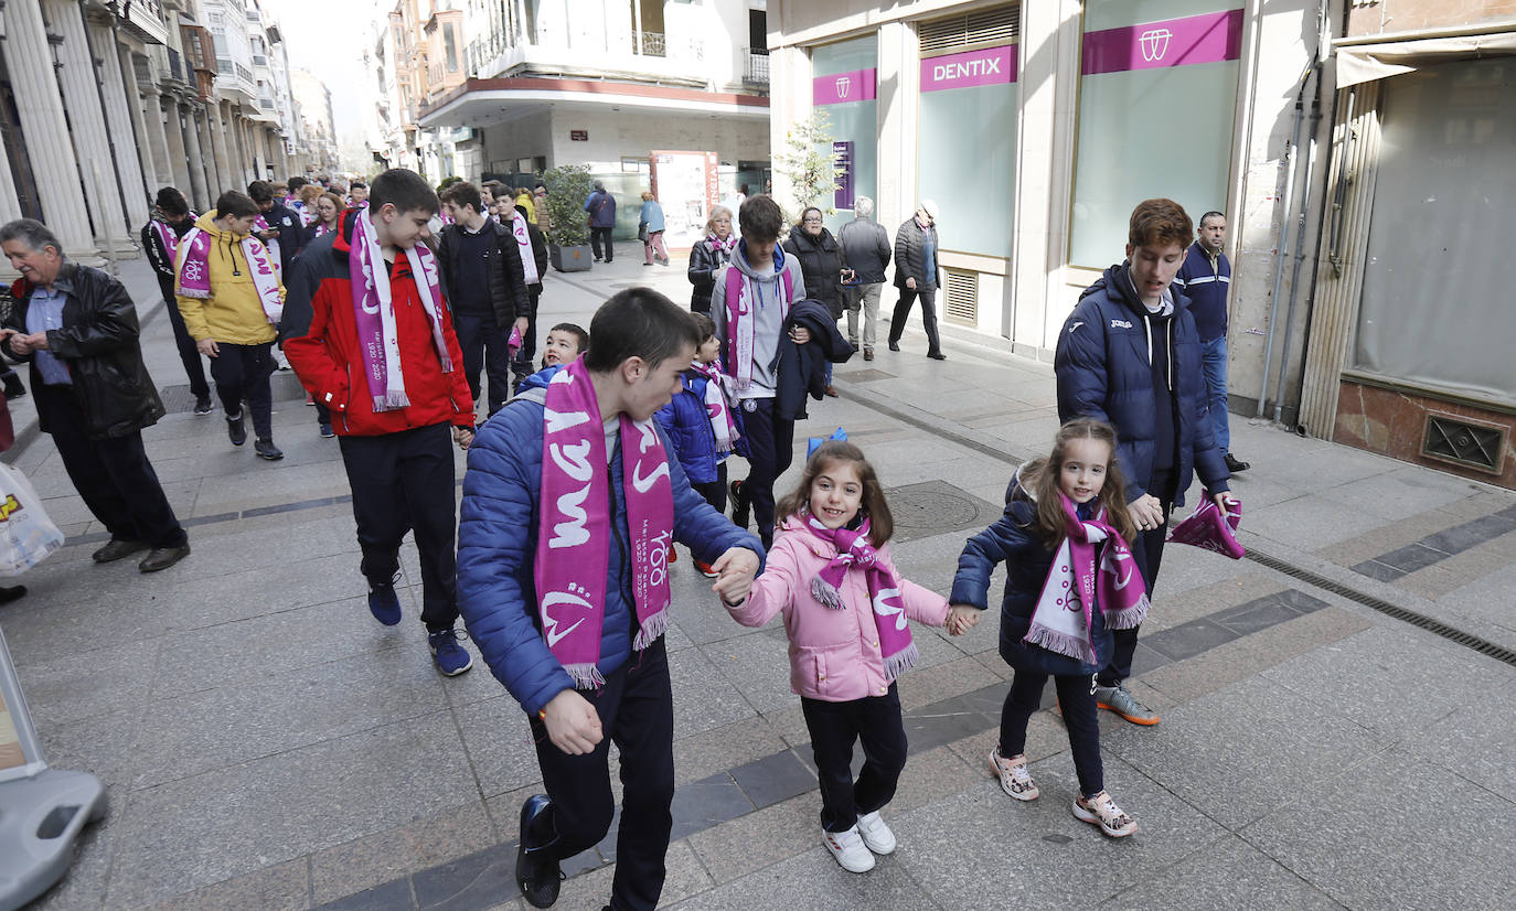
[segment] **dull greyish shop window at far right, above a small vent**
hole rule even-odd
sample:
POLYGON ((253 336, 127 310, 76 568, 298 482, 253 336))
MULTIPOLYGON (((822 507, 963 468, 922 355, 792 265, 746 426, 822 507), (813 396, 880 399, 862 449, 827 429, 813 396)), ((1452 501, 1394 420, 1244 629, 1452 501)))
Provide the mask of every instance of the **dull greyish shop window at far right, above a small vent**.
POLYGON ((1516 59, 1389 79, 1381 124, 1354 365, 1516 403, 1516 59))

